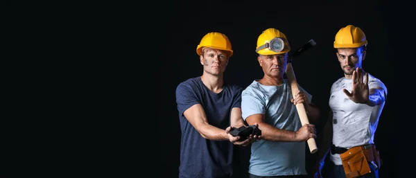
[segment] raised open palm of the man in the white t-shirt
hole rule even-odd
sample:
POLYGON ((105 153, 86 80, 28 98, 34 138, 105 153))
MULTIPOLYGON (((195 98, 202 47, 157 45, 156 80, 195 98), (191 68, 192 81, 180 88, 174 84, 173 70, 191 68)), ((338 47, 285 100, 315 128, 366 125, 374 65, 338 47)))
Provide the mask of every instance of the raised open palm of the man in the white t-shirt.
POLYGON ((343 91, 354 103, 367 103, 370 94, 370 89, 368 89, 368 73, 365 73, 365 81, 363 81, 363 69, 357 67, 352 73, 351 93, 347 89, 343 89, 343 91))

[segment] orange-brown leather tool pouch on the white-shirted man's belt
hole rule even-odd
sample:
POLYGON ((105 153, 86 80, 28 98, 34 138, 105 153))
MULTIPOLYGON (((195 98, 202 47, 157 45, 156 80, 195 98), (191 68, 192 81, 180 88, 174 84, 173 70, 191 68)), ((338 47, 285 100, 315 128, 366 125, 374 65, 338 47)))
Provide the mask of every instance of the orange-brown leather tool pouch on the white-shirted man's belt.
MULTIPOLYGON (((371 149, 372 150, 372 149, 371 149)), ((367 158, 361 146, 356 146, 340 154, 345 170, 345 177, 354 178, 370 173, 367 158)))

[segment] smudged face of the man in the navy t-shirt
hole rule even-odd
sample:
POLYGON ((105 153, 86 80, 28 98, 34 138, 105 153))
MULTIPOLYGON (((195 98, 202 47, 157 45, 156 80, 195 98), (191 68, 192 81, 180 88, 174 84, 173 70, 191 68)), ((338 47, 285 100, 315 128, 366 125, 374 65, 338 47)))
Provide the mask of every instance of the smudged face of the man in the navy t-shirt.
POLYGON ((228 64, 228 52, 214 48, 203 48, 200 62, 204 71, 211 75, 220 75, 228 64))

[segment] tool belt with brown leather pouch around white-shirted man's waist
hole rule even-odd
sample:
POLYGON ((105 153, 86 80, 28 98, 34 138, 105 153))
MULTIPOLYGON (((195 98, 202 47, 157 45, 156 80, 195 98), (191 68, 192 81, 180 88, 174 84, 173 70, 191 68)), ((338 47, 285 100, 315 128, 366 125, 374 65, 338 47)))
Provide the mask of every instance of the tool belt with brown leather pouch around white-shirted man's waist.
POLYGON ((370 173, 369 163, 375 169, 380 168, 382 164, 379 150, 376 150, 376 145, 374 144, 356 146, 350 149, 337 148, 335 145, 332 145, 331 152, 340 154, 345 177, 347 178, 360 177, 370 173))

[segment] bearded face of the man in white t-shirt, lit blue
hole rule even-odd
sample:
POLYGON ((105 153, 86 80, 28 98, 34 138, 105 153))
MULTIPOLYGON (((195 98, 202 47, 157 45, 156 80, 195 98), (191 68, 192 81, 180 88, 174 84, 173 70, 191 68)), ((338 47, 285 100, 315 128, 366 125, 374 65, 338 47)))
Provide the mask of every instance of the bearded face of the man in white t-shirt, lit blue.
POLYGON ((365 51, 362 48, 338 48, 336 56, 345 75, 352 75, 357 67, 361 67, 365 51))

